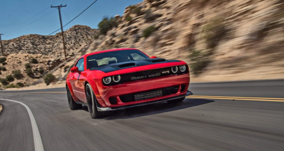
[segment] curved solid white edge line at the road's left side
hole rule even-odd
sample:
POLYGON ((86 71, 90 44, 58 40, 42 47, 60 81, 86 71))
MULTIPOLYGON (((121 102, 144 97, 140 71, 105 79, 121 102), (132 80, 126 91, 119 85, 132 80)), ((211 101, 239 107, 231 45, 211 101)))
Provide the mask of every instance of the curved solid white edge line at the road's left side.
POLYGON ((8 99, 1 99, 1 100, 16 102, 16 103, 20 103, 21 105, 25 106, 25 108, 27 109, 27 111, 29 113, 29 118, 30 118, 31 124, 32 124, 34 150, 35 151, 44 151, 43 144, 42 144, 42 141, 41 141, 41 135, 40 135, 39 130, 37 128, 37 122, 34 119, 33 113, 29 109, 29 107, 27 105, 25 105, 24 103, 21 103, 21 102, 18 102, 18 101, 8 100, 8 99))

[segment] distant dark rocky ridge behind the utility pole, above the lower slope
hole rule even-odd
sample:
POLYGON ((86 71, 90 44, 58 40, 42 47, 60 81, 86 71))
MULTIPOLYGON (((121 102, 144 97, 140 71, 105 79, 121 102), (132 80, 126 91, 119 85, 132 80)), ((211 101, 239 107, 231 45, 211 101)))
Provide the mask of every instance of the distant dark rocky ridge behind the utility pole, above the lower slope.
MULTIPOLYGON (((66 55, 77 54, 84 45, 88 45, 98 33, 97 29, 88 26, 75 25, 64 31, 66 55)), ((54 36, 24 35, 11 40, 2 41, 4 53, 27 53, 48 55, 50 58, 64 58, 61 33, 54 36)))

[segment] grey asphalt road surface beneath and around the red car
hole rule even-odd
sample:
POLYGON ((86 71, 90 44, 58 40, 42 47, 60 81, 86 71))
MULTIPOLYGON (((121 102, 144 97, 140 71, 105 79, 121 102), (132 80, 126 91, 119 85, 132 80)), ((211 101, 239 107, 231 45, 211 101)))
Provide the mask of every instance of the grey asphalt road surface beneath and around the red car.
MULTIPOLYGON (((283 98, 284 80, 191 83, 194 95, 283 98)), ((45 150, 284 150, 284 102, 187 98, 92 119, 70 110, 65 88, 0 91, 0 149, 34 150, 35 118, 45 150), (56 93, 53 93, 56 92, 56 93)))

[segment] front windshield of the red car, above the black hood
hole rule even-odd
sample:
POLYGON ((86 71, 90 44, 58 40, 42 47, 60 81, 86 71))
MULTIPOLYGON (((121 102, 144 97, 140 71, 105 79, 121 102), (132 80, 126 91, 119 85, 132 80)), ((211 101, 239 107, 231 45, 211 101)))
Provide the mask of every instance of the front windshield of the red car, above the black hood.
POLYGON ((149 59, 147 55, 139 50, 119 50, 104 52, 87 57, 87 69, 107 65, 115 64, 119 62, 143 60, 149 59))

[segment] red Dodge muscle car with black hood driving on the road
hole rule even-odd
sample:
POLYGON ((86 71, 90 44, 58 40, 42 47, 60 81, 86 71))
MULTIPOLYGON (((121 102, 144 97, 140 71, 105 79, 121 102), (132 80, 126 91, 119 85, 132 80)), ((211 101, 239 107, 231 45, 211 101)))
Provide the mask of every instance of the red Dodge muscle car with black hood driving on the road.
POLYGON ((92 118, 127 107, 181 102, 192 95, 188 87, 184 61, 149 57, 134 48, 85 54, 66 78, 70 109, 86 105, 92 118))

